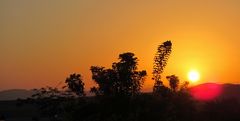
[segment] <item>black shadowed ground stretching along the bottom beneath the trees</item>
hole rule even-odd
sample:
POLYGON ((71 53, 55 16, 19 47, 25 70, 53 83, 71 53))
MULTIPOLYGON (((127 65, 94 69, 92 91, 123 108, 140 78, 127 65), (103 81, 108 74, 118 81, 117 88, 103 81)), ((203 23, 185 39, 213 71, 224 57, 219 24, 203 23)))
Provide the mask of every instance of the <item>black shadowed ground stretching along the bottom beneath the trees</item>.
POLYGON ((1 101, 0 114, 6 121, 239 121, 240 102, 199 102, 181 94, 1 101))

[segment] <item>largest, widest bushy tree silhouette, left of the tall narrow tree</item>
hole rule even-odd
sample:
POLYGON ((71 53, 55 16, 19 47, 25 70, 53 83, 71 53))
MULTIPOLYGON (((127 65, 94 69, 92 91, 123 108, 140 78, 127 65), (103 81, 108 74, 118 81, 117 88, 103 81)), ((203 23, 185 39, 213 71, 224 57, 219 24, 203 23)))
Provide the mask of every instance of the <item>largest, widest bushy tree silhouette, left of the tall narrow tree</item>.
POLYGON ((119 55, 119 62, 112 64, 111 69, 92 66, 92 79, 98 87, 91 89, 97 95, 130 96, 140 92, 146 71, 137 71, 138 59, 133 53, 119 55))

